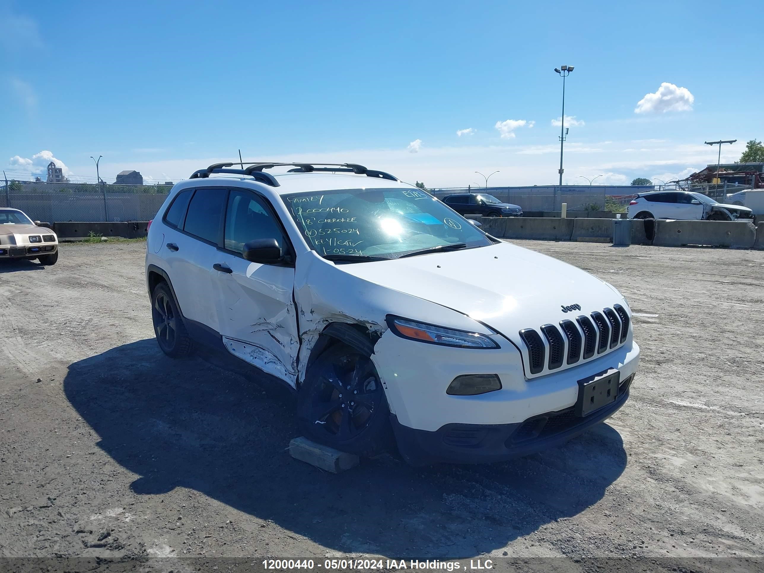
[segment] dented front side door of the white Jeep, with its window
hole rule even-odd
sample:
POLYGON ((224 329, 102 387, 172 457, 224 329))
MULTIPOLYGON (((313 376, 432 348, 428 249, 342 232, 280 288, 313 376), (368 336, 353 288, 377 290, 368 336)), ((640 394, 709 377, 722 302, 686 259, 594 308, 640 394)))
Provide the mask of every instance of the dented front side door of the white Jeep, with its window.
POLYGON ((220 329, 228 351, 268 374, 296 384, 299 351, 293 299, 294 267, 258 264, 241 257, 244 243, 277 238, 289 248, 267 200, 231 189, 225 219, 225 248, 219 250, 217 280, 220 329))

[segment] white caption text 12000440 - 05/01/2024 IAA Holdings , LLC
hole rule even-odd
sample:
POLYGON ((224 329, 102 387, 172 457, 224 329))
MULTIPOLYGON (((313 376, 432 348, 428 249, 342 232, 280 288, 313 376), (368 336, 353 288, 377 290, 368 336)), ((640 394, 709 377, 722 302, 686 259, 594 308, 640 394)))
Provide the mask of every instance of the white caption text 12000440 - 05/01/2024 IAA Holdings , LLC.
POLYGON ((293 569, 429 569, 454 571, 460 569, 478 570, 492 569, 494 563, 490 559, 470 559, 467 562, 458 561, 419 561, 418 559, 326 559, 323 563, 314 562, 312 559, 264 559, 263 567, 274 570, 293 570, 293 569))

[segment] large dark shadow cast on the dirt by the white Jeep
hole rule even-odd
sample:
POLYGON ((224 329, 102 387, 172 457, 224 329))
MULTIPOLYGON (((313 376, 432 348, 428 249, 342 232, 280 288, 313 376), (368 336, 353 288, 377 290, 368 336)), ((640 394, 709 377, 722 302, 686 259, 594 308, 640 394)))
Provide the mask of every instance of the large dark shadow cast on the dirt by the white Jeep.
POLYGON ((63 387, 97 445, 140 476, 135 493, 193 488, 340 552, 490 552, 591 507, 626 467, 620 435, 601 424, 502 464, 410 468, 388 457, 329 474, 287 452, 293 400, 199 358, 173 361, 154 339, 72 364, 63 387))

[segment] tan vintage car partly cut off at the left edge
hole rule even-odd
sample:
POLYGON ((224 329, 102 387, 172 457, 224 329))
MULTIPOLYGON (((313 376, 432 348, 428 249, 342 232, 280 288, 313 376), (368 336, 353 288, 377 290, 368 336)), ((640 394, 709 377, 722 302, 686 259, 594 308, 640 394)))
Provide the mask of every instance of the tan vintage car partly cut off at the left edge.
POLYGON ((0 261, 37 259, 44 265, 58 261, 58 237, 18 209, 0 207, 0 261))

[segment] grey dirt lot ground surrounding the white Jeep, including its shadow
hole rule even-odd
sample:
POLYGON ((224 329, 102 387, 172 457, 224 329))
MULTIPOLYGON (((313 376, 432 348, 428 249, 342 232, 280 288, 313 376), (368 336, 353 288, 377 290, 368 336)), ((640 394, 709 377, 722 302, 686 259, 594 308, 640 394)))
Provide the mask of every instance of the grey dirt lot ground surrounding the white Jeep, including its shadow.
POLYGON ((144 244, 0 267, 0 556, 764 555, 764 252, 513 241, 617 286, 632 396, 562 448, 328 474, 289 397, 157 348, 144 244))

